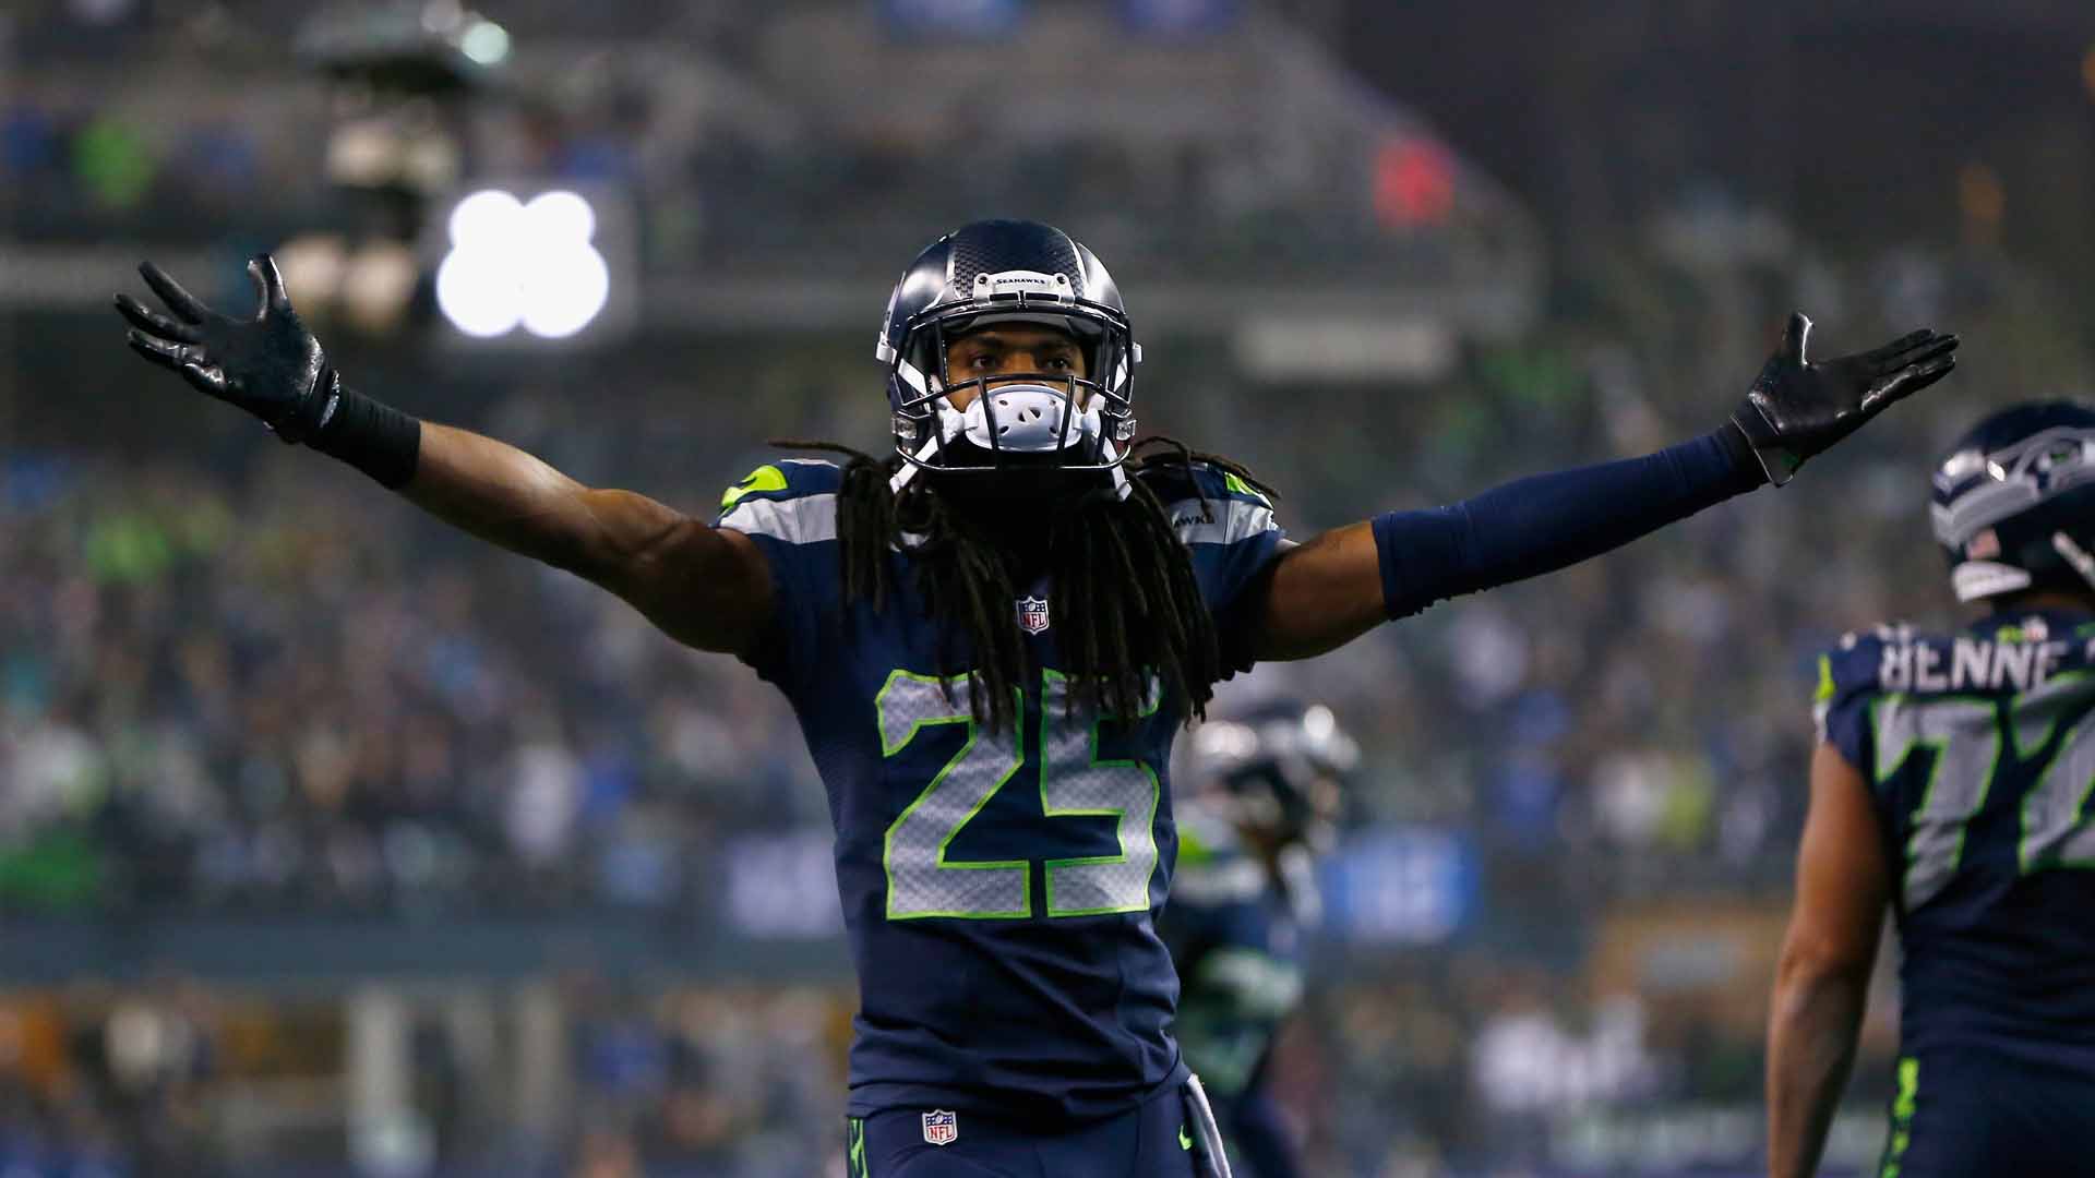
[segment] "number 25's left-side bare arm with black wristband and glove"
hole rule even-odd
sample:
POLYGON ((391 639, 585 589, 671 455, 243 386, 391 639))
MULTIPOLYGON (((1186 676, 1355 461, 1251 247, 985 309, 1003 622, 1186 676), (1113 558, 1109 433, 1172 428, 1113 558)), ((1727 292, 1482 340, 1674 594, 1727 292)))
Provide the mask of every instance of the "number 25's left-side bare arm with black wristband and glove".
POLYGON ((754 650, 773 587, 748 537, 645 495, 582 486, 515 446, 358 394, 291 310, 268 256, 247 270, 262 306, 253 319, 228 319, 157 266, 140 266, 172 319, 117 296, 132 350, 253 413, 281 440, 333 455, 457 528, 618 593, 687 646, 754 650))

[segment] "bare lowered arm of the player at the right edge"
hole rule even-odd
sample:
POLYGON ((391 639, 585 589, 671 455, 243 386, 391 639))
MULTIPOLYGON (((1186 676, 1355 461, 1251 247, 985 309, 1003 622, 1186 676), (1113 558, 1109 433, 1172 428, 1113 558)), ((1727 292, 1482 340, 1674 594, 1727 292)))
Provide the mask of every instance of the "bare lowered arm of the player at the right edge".
POLYGON ((1818 1170, 1854 1063, 1890 887, 1869 786, 1821 744, 1798 849, 1798 899, 1768 1010, 1770 1178, 1818 1170))

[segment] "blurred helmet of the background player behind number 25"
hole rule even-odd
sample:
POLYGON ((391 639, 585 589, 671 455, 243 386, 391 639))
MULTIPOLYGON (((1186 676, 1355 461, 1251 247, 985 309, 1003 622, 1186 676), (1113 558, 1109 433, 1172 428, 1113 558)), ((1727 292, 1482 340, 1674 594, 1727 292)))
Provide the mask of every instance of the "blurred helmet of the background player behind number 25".
POLYGON ((1358 763, 1360 746, 1330 708, 1274 700, 1194 729, 1184 771, 1238 826, 1322 851, 1358 763))

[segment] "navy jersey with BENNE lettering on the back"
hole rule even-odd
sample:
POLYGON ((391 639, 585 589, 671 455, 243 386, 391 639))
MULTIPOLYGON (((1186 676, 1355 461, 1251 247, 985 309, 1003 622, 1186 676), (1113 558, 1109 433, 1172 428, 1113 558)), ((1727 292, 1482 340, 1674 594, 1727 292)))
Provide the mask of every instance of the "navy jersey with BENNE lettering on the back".
POLYGON ((1904 1054, 2095 1082, 2095 620, 1850 635, 1818 723, 1896 874, 1904 1054))

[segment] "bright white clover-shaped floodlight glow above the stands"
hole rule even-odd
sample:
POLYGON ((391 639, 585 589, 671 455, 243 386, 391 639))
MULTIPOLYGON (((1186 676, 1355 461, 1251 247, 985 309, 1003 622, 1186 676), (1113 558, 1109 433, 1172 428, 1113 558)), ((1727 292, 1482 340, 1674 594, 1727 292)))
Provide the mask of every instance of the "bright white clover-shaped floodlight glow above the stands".
POLYGON ((541 193, 530 203, 499 189, 471 193, 450 210, 436 306, 480 340, 517 327, 543 340, 574 335, 612 293, 595 233, 597 214, 576 193, 541 193))

